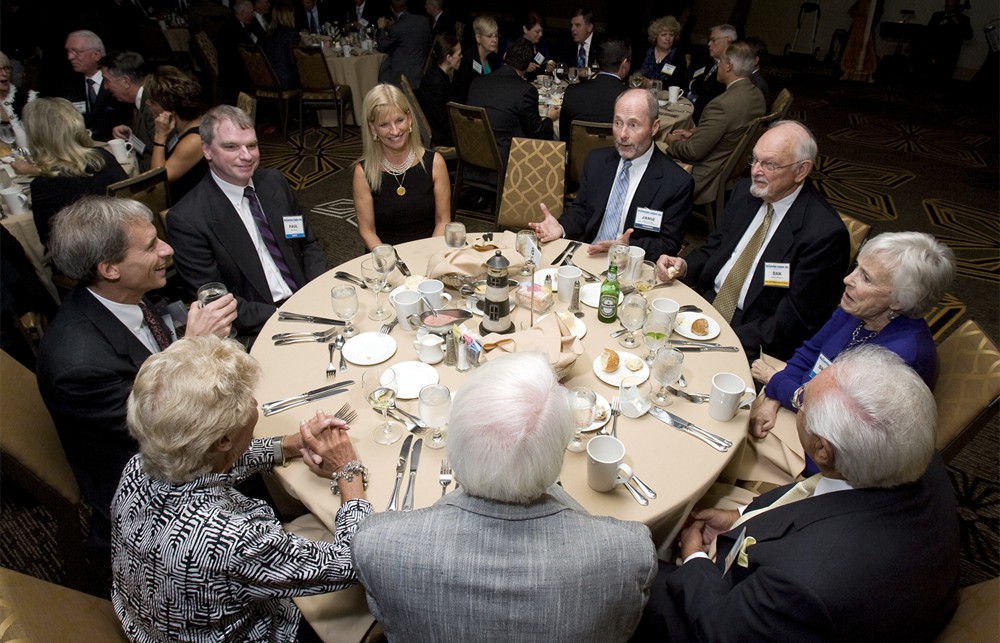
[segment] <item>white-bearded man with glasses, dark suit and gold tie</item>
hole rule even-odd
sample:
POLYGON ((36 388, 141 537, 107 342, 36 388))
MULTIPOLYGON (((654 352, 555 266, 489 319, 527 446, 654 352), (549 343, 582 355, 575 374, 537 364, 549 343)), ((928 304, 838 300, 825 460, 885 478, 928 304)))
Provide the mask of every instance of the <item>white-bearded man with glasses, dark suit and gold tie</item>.
POLYGON ((850 237, 837 212, 806 183, 816 139, 804 125, 775 123, 757 141, 753 158, 751 179, 733 189, 705 245, 687 260, 660 257, 657 272, 664 280, 682 278, 720 312, 716 298, 733 275, 725 292, 735 302, 727 297, 726 307, 747 356, 753 361, 763 347, 788 359, 837 305, 850 237), (761 228, 766 232, 757 237, 757 251, 749 263, 740 262, 761 228), (738 263, 745 276, 735 269, 738 263))

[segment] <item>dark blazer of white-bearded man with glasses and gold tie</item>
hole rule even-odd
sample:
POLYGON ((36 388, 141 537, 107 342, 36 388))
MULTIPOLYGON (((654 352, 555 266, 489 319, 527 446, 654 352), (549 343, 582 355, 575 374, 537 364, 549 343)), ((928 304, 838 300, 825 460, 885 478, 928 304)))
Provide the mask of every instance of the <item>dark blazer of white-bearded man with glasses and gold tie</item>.
MULTIPOLYGON (((709 302, 715 299, 716 275, 760 209, 750 183, 737 184, 715 232, 687 257, 684 282, 709 302)), ((747 357, 755 359, 763 346, 768 355, 788 359, 816 334, 844 290, 850 245, 836 210, 807 181, 764 248, 744 308, 733 314, 731 324, 747 357), (764 285, 764 262, 789 264, 788 288, 764 285)))

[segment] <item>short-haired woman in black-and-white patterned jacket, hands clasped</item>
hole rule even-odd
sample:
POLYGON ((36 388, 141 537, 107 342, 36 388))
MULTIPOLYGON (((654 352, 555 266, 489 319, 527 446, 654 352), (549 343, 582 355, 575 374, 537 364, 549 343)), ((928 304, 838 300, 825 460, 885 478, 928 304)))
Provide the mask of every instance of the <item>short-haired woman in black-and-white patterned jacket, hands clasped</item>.
POLYGON ((348 426, 320 411, 299 433, 255 439, 260 373, 242 345, 211 336, 174 342, 136 376, 139 455, 111 507, 111 598, 132 641, 295 640, 293 596, 357 582, 351 540, 372 507, 348 426), (299 455, 340 496, 332 543, 285 532, 235 489, 299 455))

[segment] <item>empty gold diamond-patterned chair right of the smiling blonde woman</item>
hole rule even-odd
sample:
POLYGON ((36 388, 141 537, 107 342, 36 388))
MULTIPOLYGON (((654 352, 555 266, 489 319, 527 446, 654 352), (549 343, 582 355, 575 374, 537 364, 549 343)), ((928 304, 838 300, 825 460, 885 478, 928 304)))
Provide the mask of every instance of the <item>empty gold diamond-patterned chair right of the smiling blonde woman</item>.
POLYGON ((510 143, 507 174, 497 223, 508 230, 524 230, 529 221, 542 218, 539 203, 552 216, 563 212, 566 144, 515 136, 510 143))

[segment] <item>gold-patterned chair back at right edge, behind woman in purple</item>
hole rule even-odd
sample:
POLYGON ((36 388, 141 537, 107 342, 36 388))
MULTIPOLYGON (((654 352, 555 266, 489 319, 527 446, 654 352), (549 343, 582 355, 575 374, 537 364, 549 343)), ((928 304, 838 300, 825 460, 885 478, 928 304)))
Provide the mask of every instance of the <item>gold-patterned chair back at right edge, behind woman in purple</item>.
POLYGON ((938 345, 937 449, 958 455, 1000 409, 1000 351, 971 319, 938 345))

